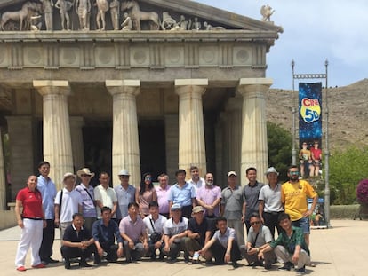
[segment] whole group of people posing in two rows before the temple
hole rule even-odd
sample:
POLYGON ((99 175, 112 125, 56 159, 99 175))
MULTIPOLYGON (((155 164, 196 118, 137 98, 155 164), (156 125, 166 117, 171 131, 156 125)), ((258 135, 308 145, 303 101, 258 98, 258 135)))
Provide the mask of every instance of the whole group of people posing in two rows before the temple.
POLYGON ((16 255, 18 271, 25 271, 28 248, 32 267, 44 268, 52 259, 54 228, 60 228, 61 255, 66 269, 78 258, 82 267, 98 265, 103 259, 127 263, 143 256, 151 260, 167 257, 176 262, 180 252, 190 264, 233 264, 245 258, 249 265, 270 269, 276 262, 281 269, 305 272, 310 263, 308 217, 316 208, 317 194, 307 181, 300 179, 297 166, 288 170, 289 181, 280 185, 278 172, 266 172, 268 185, 257 180, 257 170, 248 168, 249 181, 242 187, 235 171, 228 172, 228 186, 214 185, 212 173, 199 176, 196 166, 177 170, 176 183, 169 177, 143 175, 140 186, 129 183, 128 170, 119 172, 120 184, 109 186, 107 172, 99 175, 100 185, 92 187, 95 176, 88 168, 76 175, 66 173, 64 187, 57 192, 50 179, 50 164, 41 162, 40 176, 28 177, 28 186, 17 194, 16 216, 22 228, 16 255), (313 198, 308 209, 307 198, 313 198), (22 208, 22 211, 20 209, 22 208), (247 238, 244 240, 244 224, 247 238), (278 237, 275 238, 275 230, 278 237))

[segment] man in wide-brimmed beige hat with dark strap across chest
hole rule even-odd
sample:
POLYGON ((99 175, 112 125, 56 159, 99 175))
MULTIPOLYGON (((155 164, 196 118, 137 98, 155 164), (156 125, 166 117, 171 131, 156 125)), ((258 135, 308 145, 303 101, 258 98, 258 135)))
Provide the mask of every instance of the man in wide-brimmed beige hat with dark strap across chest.
POLYGON ((94 191, 90 185, 94 173, 88 168, 83 168, 76 172, 76 175, 81 178, 82 182, 76 186, 76 192, 79 192, 82 197, 82 214, 84 217, 84 226, 92 233, 92 225, 96 221, 96 202, 94 201, 94 191))

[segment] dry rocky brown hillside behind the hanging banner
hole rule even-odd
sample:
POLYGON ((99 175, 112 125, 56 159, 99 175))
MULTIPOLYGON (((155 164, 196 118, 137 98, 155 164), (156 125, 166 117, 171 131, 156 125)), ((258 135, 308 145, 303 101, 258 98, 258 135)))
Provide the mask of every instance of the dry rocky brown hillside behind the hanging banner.
MULTIPOLYGON (((297 84, 296 84, 296 90, 297 84)), ((268 121, 292 130, 292 103, 297 105, 298 91, 272 89, 268 92, 268 121)), ((323 120, 325 120, 325 90, 323 91, 323 120)), ((348 86, 328 89, 330 149, 348 145, 368 146, 368 79, 348 86)), ((296 122, 298 128, 298 121, 296 122)), ((325 121, 323 121, 325 130, 325 121)), ((325 142, 323 141, 323 146, 325 142)))

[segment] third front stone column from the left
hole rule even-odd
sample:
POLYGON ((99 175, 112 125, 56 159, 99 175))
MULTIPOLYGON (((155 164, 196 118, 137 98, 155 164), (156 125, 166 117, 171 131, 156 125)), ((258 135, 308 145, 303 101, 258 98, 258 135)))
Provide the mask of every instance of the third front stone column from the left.
POLYGON ((187 177, 191 165, 198 167, 201 176, 206 171, 202 95, 207 85, 207 79, 175 80, 179 95, 179 168, 187 171, 187 177))

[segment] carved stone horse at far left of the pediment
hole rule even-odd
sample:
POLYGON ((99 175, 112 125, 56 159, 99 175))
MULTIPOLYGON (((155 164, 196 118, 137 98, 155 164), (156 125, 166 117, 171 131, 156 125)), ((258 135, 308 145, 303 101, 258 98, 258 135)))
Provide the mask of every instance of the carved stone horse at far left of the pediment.
POLYGON ((13 20, 13 21, 20 21, 20 31, 21 31, 23 26, 25 28, 27 28, 27 26, 28 26, 28 21, 27 20, 28 20, 28 15, 29 15, 30 10, 33 10, 33 11, 36 11, 36 12, 41 12, 40 8, 41 8, 40 4, 26 2, 21 7, 20 11, 4 12, 3 15, 1 16, 0 28, 2 30, 4 30, 5 24, 9 20, 13 20), (24 24, 23 24, 23 22, 24 22, 24 24))

